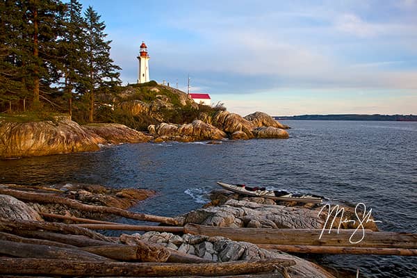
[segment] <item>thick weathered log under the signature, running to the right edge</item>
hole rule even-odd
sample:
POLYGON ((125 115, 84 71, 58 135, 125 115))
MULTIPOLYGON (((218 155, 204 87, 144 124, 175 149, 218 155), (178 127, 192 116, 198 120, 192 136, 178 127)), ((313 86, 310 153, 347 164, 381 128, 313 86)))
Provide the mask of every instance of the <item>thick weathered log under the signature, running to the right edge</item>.
MULTIPOLYGON (((246 241, 255 244, 278 245, 326 245, 326 246, 350 246, 350 236, 354 230, 326 230, 322 237, 320 229, 259 229, 259 228, 227 228, 209 227, 197 224, 186 224, 184 233, 200 234, 206 236, 224 236, 236 241, 246 241)), ((361 230, 357 231, 361 233, 361 230)), ((357 240, 357 236, 354 237, 357 240)), ((366 230, 361 242, 354 247, 373 248, 403 248, 417 249, 417 234, 394 233, 385 231, 366 230)))

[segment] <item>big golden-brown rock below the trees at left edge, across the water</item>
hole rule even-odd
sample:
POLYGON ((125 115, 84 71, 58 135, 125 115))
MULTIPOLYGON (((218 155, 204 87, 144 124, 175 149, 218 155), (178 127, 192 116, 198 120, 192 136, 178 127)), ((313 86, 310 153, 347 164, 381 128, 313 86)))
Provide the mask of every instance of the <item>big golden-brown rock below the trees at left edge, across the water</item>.
POLYGON ((0 158, 97 151, 106 140, 69 117, 44 122, 0 120, 0 158))

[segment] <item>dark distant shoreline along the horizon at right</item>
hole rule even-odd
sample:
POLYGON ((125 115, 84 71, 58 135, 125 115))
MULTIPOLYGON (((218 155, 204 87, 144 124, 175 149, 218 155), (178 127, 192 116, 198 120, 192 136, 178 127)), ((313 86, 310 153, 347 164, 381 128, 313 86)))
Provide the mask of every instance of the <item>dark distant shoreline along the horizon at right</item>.
POLYGON ((417 122, 417 115, 359 115, 359 114, 336 114, 336 115, 297 115, 275 116, 275 120, 336 120, 336 121, 397 121, 417 122))

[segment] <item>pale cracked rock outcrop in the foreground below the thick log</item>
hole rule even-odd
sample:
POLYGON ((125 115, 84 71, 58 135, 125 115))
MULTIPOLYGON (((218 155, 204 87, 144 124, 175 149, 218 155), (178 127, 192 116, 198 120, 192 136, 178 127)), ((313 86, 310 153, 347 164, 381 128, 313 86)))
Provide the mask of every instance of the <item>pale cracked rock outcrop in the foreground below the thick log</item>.
POLYGON ((170 233, 158 233, 149 231, 143 235, 133 234, 140 240, 149 243, 159 243, 172 250, 178 250, 186 254, 199 256, 211 261, 244 261, 256 259, 291 259, 295 265, 288 268, 288 274, 293 278, 316 277, 316 278, 334 278, 320 266, 291 256, 286 253, 264 250, 253 243, 236 242, 223 238, 222 236, 193 236, 185 234, 177 236, 170 233))

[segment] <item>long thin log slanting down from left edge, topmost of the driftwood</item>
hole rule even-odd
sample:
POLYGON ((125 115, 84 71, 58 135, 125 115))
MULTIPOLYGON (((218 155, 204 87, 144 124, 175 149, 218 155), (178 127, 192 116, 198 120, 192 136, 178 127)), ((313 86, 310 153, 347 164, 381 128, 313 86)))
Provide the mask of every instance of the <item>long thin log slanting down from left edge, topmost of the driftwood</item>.
POLYGON ((75 208, 79 211, 88 211, 90 213, 105 213, 112 214, 117 216, 122 216, 124 218, 131 218, 135 220, 150 221, 150 222, 160 222, 164 224, 173 224, 177 225, 178 221, 174 218, 168 218, 158 215, 149 215, 145 213, 133 213, 131 211, 125 211, 121 208, 113 208, 109 206, 92 206, 89 204, 83 204, 74 199, 68 199, 62 196, 55 194, 43 194, 43 193, 28 193, 20 190, 13 190, 8 188, 0 188, 0 194, 6 194, 13 196, 20 200, 30 201, 30 202, 39 202, 47 204, 64 204, 75 208))

